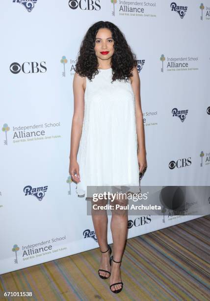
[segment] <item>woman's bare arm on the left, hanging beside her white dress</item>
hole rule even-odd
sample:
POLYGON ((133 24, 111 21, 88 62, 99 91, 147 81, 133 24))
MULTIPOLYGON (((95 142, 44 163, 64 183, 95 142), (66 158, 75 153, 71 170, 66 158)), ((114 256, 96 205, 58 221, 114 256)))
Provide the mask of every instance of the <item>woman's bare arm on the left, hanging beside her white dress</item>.
POLYGON ((79 142, 82 132, 82 124, 84 118, 84 89, 85 89, 85 77, 80 77, 78 73, 75 73, 73 80, 73 92, 74 92, 74 114, 72 118, 72 130, 71 130, 71 150, 70 150, 70 175, 77 174, 77 177, 72 177, 73 181, 80 180, 79 165, 77 163, 77 154, 79 150, 79 142), (77 179, 78 178, 78 179, 77 179))

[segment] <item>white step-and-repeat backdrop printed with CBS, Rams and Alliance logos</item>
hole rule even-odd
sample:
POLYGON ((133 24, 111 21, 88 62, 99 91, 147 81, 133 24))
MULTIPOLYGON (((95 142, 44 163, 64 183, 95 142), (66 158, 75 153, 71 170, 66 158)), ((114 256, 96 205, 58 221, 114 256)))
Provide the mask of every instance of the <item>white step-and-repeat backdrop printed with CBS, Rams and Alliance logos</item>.
MULTIPOLYGON (((75 64, 101 20, 124 32, 137 58, 148 161, 141 185, 210 184, 209 0, 2 1, 0 273, 98 247, 68 170, 75 64)), ((207 193, 203 215, 209 203, 207 193)), ((162 216, 133 213, 128 237, 199 216, 193 206, 184 215, 173 206, 162 216)))

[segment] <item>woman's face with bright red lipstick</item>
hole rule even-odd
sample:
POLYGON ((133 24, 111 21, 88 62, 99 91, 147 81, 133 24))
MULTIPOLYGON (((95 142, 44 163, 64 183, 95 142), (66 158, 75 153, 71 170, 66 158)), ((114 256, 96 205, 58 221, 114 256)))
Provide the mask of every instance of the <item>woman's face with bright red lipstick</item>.
POLYGON ((96 34, 95 53, 98 59, 108 60, 114 54, 114 40, 107 28, 101 28, 96 34))

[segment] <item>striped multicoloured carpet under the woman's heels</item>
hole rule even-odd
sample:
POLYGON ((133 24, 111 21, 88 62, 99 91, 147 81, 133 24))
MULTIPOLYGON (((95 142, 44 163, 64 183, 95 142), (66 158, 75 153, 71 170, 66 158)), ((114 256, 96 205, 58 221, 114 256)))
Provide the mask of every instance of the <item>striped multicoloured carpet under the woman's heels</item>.
POLYGON ((209 254, 210 215, 129 239, 120 294, 111 293, 109 281, 98 276, 98 248, 0 275, 0 292, 31 291, 30 300, 38 301, 207 301, 209 254))

